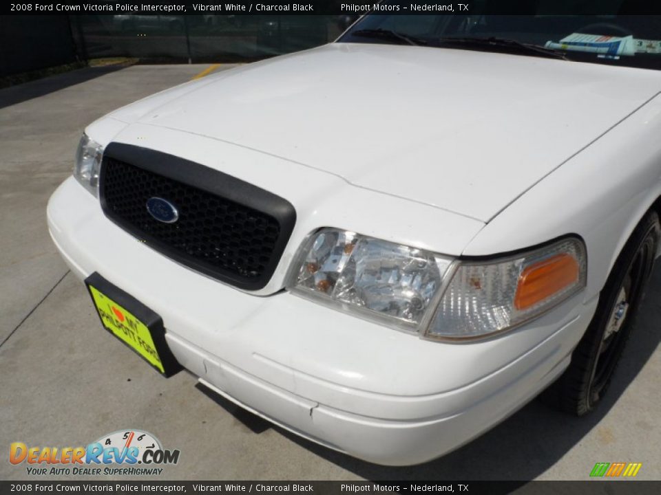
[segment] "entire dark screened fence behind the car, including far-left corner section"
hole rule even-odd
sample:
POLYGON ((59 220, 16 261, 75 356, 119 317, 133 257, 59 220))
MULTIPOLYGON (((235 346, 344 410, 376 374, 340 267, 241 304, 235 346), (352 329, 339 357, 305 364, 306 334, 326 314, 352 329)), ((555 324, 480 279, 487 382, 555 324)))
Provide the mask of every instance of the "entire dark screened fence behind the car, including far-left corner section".
POLYGON ((337 15, 0 16, 0 76, 91 58, 254 61, 333 41, 346 23, 337 15))

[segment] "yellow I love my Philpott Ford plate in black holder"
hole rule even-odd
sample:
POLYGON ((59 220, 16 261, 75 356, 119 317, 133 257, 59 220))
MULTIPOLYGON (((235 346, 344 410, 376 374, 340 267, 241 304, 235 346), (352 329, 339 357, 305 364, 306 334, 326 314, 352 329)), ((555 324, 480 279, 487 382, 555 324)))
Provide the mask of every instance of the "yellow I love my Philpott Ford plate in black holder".
POLYGON ((85 280, 101 325, 165 376, 181 369, 158 314, 94 273, 85 280))

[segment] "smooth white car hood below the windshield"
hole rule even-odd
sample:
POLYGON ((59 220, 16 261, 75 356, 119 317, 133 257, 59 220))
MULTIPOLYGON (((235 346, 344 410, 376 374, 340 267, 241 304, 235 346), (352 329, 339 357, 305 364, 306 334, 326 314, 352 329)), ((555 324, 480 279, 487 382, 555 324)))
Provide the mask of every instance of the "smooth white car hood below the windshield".
POLYGON ((221 72, 112 116, 489 221, 660 89, 660 73, 644 69, 335 43, 221 72))

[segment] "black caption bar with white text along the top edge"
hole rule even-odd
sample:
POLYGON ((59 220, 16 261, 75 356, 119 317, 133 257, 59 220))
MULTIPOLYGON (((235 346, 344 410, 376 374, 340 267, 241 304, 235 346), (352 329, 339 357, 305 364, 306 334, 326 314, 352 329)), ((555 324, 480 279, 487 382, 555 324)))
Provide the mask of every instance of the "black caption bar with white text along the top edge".
POLYGON ((326 14, 361 15, 369 12, 384 14, 509 14, 509 15, 647 15, 661 14, 658 0, 541 1, 541 0, 463 0, 465 3, 443 1, 103 1, 62 0, 4 3, 2 14, 326 14), (609 5, 605 5, 605 4, 609 5))

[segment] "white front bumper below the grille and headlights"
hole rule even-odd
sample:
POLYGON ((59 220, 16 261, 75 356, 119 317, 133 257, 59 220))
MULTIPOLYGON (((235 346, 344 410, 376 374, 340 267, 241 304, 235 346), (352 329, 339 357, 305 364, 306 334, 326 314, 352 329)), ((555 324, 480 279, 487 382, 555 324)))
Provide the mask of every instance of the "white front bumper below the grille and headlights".
POLYGON ((72 178, 50 199, 48 225, 76 276, 99 272, 162 316, 172 352, 204 384, 381 464, 433 459, 523 406, 569 364, 596 307, 579 295, 499 338, 430 342, 288 292, 258 297, 192 272, 106 219, 72 178))

